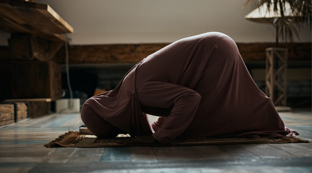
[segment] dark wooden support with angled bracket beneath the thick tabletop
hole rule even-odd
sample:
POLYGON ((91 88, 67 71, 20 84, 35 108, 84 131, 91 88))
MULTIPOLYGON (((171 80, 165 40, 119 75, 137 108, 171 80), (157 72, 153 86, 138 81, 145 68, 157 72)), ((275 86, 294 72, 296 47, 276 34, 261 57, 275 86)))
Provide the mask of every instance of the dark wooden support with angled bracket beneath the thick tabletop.
POLYGON ((11 98, 61 98, 61 66, 52 61, 63 42, 11 34, 11 98))

